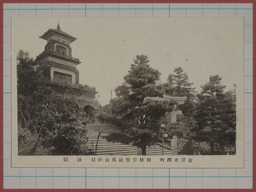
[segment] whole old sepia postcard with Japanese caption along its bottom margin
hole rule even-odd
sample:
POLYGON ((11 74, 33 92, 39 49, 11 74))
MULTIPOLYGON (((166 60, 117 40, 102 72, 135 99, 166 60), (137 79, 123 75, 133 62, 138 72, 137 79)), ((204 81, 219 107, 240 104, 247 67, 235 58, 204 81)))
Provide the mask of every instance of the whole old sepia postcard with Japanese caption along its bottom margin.
POLYGON ((13 18, 12 166, 243 167, 243 18, 13 18))

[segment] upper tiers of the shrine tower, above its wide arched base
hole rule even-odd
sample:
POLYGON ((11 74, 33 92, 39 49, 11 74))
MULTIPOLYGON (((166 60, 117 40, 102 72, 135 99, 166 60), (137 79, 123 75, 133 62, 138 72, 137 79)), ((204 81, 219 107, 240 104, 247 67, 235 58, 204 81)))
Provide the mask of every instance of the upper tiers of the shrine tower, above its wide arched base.
POLYGON ((56 29, 49 29, 39 37, 47 41, 44 52, 37 60, 50 67, 50 79, 61 84, 79 84, 79 59, 72 57, 71 44, 76 38, 61 31, 60 24, 56 29))

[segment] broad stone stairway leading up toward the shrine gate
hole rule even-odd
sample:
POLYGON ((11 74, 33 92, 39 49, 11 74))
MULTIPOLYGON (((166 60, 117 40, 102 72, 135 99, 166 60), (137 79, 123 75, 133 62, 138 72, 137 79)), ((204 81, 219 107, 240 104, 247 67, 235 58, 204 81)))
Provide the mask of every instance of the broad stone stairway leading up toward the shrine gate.
MULTIPOLYGON (((122 143, 112 143, 108 142, 106 139, 102 138, 102 136, 108 135, 108 130, 113 130, 113 127, 110 125, 102 125, 102 124, 90 124, 87 126, 88 128, 88 142, 87 145, 93 151, 96 148, 96 140, 99 131, 103 131, 101 137, 99 138, 98 147, 97 147, 97 155, 137 155, 137 147, 132 146, 132 144, 122 144, 122 143), (97 131, 96 131, 97 130, 97 131)), ((161 155, 162 147, 160 145, 152 145, 147 147, 147 155, 161 155)), ((168 148, 164 148, 165 155, 171 155, 172 152, 168 148)))

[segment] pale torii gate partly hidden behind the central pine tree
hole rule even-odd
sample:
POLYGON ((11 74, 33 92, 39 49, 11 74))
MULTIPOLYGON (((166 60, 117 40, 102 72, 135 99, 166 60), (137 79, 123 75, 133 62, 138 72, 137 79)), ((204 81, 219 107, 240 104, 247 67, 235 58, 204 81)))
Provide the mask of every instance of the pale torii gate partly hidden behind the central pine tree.
MULTIPOLYGON (((146 97, 144 101, 155 101, 155 102, 164 102, 164 101, 172 101, 177 102, 177 104, 184 104, 186 101, 186 96, 167 96, 163 95, 163 97, 146 97)), ((176 104, 174 106, 174 110, 169 113, 168 121, 169 123, 176 123, 177 122, 177 114, 182 114, 181 110, 176 110, 176 104)), ((171 146, 172 146, 172 155, 177 155, 177 136, 173 136, 171 139, 171 146)))

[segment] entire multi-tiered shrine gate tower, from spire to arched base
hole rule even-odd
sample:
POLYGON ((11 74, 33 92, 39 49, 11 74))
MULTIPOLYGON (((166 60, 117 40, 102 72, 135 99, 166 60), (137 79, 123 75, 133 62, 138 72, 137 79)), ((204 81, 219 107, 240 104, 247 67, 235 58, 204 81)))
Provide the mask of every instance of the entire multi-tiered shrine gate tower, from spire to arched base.
POLYGON ((62 32, 59 23, 56 29, 49 29, 39 38, 46 40, 47 44, 36 61, 46 67, 46 76, 54 85, 53 88, 66 86, 68 89, 65 96, 75 99, 80 110, 90 113, 90 117, 95 120, 94 114, 99 109, 96 88, 79 84, 79 70, 76 67, 81 62, 72 56, 70 44, 77 38, 62 32))

